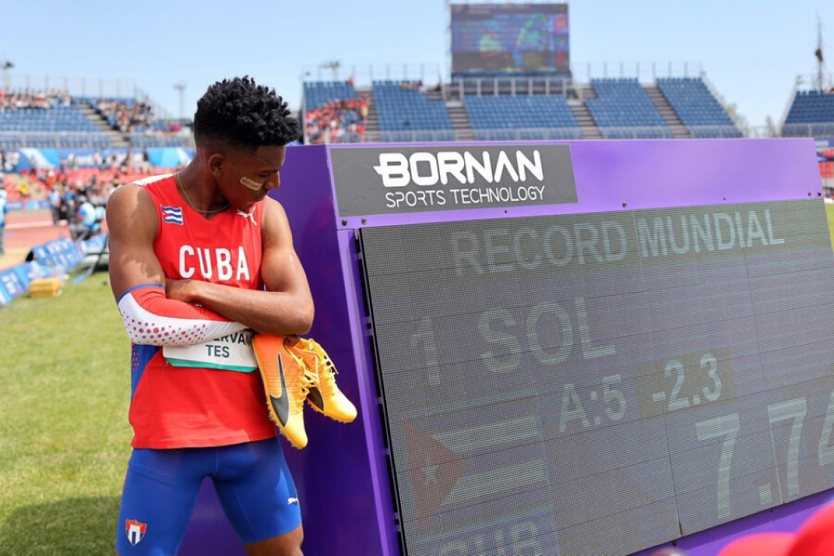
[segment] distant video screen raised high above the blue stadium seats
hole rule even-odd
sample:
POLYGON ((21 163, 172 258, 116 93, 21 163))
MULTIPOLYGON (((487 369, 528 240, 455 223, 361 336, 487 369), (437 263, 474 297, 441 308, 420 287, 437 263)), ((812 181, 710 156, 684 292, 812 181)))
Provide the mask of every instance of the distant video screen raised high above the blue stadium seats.
POLYGON ((568 72, 568 6, 452 4, 452 73, 568 72))

